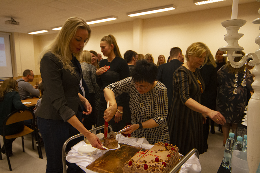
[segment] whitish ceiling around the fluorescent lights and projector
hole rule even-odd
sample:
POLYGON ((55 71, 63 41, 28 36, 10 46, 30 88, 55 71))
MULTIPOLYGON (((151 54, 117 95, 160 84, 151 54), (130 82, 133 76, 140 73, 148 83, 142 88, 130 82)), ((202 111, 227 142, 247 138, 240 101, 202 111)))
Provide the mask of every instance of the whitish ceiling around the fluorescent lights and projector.
MULTIPOLYGON (((239 4, 256 0, 239 0, 239 4)), ((118 19, 93 26, 108 25, 131 21, 134 18, 152 18, 217 7, 231 6, 232 0, 195 5, 193 0, 0 0, 0 31, 28 33, 61 26, 71 16, 80 16, 86 20, 117 16, 118 19), (127 12, 173 4, 176 9, 168 12, 129 17, 127 12), (20 25, 5 25, 5 20, 14 18, 20 25)), ((46 34, 46 33, 45 33, 46 34)), ((38 34, 39 35, 39 34, 38 34)))

